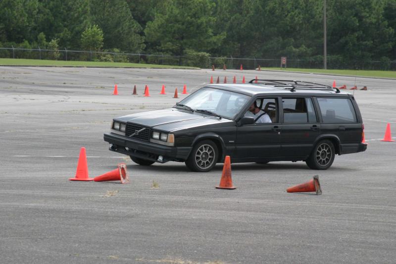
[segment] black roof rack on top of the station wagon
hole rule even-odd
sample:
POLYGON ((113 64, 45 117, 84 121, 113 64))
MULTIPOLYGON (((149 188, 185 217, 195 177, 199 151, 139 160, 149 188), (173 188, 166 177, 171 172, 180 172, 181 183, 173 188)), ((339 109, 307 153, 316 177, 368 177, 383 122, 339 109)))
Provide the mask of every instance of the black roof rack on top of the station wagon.
POLYGON ((277 88, 290 89, 290 92, 295 92, 296 89, 312 89, 312 90, 328 90, 328 91, 336 91, 336 93, 340 93, 340 90, 336 87, 331 87, 328 85, 312 83, 312 82, 304 82, 304 81, 294 81, 294 80, 269 80, 269 79, 252 79, 249 83, 257 83, 264 85, 271 85, 277 88))

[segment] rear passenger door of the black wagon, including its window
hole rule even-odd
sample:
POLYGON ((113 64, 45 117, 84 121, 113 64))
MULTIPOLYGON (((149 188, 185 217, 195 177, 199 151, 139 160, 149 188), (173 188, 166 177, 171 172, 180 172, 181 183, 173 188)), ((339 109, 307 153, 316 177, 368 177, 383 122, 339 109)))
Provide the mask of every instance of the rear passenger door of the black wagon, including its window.
POLYGON ((320 124, 310 97, 282 97, 282 157, 308 156, 320 133, 320 124))

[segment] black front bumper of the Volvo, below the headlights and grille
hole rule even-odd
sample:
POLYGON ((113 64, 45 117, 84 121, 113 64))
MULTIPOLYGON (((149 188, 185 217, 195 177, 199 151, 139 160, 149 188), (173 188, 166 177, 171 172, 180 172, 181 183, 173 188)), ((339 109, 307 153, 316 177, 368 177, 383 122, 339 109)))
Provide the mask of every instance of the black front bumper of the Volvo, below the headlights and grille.
POLYGON ((162 146, 151 142, 127 138, 114 133, 104 133, 103 139, 111 144, 109 148, 111 151, 160 163, 171 160, 184 161, 188 158, 192 149, 191 147, 162 146), (163 157, 162 160, 158 160, 159 156, 163 157))

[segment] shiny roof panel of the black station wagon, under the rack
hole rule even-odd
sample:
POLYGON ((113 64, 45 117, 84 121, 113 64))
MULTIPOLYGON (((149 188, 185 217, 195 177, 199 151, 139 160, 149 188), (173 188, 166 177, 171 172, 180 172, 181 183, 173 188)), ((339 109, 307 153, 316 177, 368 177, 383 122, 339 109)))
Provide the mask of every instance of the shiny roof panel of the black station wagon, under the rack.
POLYGON ((276 87, 273 85, 260 83, 239 83, 239 84, 209 84, 205 87, 226 90, 230 92, 245 94, 249 96, 256 95, 303 95, 303 96, 350 96, 350 94, 340 91, 338 89, 316 89, 308 87, 297 87, 291 91, 292 87, 276 87))

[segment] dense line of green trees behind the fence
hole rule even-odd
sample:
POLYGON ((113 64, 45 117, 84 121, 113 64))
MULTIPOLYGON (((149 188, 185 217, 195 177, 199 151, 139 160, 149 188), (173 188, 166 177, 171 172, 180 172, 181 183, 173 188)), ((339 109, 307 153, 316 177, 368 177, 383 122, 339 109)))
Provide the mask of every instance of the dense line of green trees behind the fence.
MULTIPOLYGON (((0 47, 203 61, 230 55, 322 60, 323 5, 323 0, 1 0, 0 47)), ((396 60, 396 0, 327 0, 326 10, 330 60, 396 60)))

